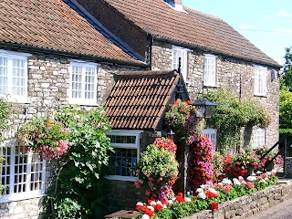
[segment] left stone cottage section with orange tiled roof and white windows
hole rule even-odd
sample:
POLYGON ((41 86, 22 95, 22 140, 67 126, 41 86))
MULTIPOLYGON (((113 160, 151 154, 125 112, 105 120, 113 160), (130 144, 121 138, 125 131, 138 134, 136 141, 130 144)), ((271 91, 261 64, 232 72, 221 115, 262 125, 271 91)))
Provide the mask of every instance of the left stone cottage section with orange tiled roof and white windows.
POLYGON ((64 1, 5 0, 0 11, 0 94, 15 123, 0 147, 0 217, 38 218, 50 171, 15 138, 19 125, 68 104, 98 106, 114 73, 147 65, 64 1))

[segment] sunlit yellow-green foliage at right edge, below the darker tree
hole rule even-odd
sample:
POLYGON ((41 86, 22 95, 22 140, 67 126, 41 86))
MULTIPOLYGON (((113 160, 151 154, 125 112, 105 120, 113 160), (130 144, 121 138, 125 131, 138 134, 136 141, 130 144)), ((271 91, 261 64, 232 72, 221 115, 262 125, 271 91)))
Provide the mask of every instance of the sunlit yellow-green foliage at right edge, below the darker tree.
POLYGON ((292 92, 280 90, 280 129, 292 129, 292 92))

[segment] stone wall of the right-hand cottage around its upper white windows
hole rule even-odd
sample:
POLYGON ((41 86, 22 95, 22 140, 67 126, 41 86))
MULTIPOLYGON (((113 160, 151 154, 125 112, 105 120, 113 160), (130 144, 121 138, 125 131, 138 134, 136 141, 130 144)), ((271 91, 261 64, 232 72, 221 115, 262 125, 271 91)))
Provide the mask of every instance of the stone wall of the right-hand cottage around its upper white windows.
MULTIPOLYGON (((267 69, 267 94, 266 97, 254 95, 254 64, 244 60, 238 60, 232 57, 217 56, 217 86, 203 86, 203 61, 204 53, 202 51, 190 50, 188 54, 188 73, 186 87, 190 94, 190 99, 195 100, 199 94, 219 87, 227 89, 234 93, 238 98, 255 99, 259 101, 272 118, 272 123, 266 130, 266 145, 273 146, 278 141, 278 93, 279 79, 272 79, 271 71, 275 68, 267 69)), ((172 45, 154 41, 152 46, 152 70, 171 70, 172 69, 172 45)), ((245 132, 245 138, 242 138, 243 145, 250 145, 253 141, 252 131, 245 132)))

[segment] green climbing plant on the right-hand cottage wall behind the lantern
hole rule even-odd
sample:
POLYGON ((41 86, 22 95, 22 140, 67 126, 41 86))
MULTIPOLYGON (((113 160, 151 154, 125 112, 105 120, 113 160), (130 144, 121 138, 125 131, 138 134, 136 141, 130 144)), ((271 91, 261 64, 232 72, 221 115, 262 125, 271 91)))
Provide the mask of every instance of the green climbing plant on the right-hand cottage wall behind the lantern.
POLYGON ((242 127, 266 128, 271 121, 269 114, 258 102, 239 99, 224 89, 208 92, 204 98, 218 104, 207 122, 218 130, 218 149, 222 153, 238 149, 242 127))

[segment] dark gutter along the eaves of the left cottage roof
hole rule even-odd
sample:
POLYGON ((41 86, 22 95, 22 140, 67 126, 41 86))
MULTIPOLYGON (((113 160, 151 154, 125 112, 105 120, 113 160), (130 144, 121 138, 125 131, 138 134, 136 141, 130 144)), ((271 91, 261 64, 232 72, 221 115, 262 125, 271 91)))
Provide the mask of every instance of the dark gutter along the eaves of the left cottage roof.
POLYGON ((49 55, 49 56, 55 56, 55 57, 71 57, 71 58, 78 58, 78 59, 86 59, 86 60, 91 60, 91 61, 104 63, 108 65, 117 64, 117 65, 122 65, 122 66, 131 66, 131 67, 140 67, 140 68, 149 67, 148 64, 143 63, 143 62, 123 61, 123 60, 117 60, 110 57, 95 57, 95 56, 90 56, 90 55, 81 54, 81 53, 66 52, 66 51, 60 51, 60 50, 51 49, 51 48, 34 47, 34 46, 28 46, 28 45, 23 45, 23 44, 17 44, 17 43, 0 42, 0 47, 4 49, 9 49, 9 50, 33 53, 36 55, 49 55))

